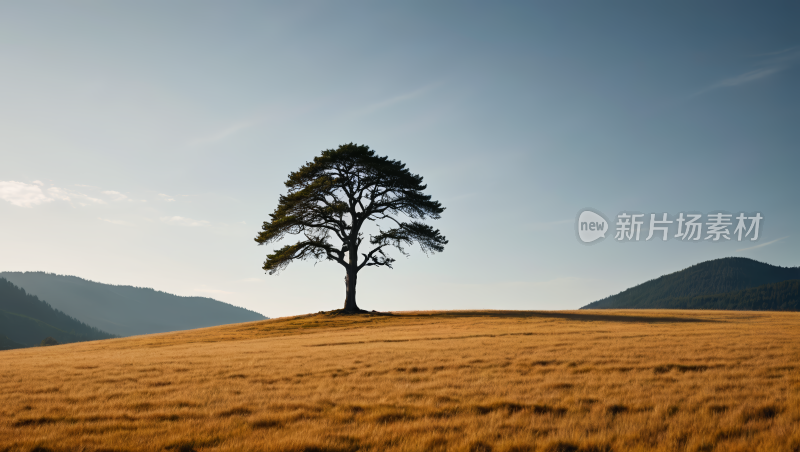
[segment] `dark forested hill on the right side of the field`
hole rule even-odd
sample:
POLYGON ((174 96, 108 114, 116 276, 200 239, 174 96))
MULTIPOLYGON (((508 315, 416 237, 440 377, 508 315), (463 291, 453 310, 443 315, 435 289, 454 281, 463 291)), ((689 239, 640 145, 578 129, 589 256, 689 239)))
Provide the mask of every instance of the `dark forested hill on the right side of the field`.
POLYGON ((800 267, 743 257, 702 262, 581 309, 800 310, 800 267))

